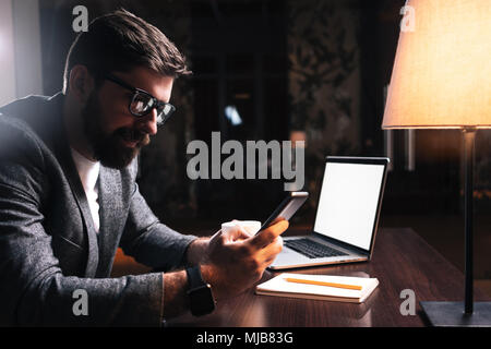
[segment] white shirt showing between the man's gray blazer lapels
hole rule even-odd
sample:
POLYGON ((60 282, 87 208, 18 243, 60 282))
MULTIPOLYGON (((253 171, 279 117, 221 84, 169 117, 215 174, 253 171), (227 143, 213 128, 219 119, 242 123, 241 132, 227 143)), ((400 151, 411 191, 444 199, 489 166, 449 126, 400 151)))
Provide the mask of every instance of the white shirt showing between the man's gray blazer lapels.
POLYGON ((71 148, 72 158, 75 163, 76 170, 79 171, 82 185, 84 186, 85 196, 87 196, 88 208, 91 208, 92 218, 94 220, 94 228, 96 232, 99 232, 99 203, 97 179, 99 178, 99 161, 91 161, 85 156, 71 148))

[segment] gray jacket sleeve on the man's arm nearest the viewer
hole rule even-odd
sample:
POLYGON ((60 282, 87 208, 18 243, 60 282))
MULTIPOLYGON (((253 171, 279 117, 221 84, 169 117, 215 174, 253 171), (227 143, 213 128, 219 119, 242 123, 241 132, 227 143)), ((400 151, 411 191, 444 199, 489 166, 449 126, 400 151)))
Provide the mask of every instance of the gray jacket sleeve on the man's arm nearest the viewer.
POLYGON ((0 325, 161 325, 161 273, 63 275, 43 226, 48 153, 3 121, 0 115, 0 325))

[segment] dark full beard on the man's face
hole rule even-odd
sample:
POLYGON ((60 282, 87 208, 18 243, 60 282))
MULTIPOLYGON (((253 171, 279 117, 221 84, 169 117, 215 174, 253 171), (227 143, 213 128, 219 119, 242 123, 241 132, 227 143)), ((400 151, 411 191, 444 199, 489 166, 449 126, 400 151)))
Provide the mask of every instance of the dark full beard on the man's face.
POLYGON ((140 149, 149 143, 148 134, 133 128, 120 128, 111 134, 106 134, 101 127, 101 108, 94 91, 82 110, 85 135, 91 142, 93 157, 103 166, 122 169, 140 153, 140 149), (124 146, 123 140, 137 142, 135 147, 124 146))

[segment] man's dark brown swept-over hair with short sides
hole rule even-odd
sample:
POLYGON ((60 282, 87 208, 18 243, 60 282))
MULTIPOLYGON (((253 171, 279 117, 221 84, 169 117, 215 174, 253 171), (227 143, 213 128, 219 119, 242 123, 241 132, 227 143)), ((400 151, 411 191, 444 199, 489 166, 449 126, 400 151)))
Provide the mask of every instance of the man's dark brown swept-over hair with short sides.
POLYGON ((76 37, 67 57, 63 92, 76 64, 87 67, 98 82, 107 73, 140 65, 175 79, 191 73, 184 57, 158 28, 125 10, 95 19, 88 32, 76 37))

